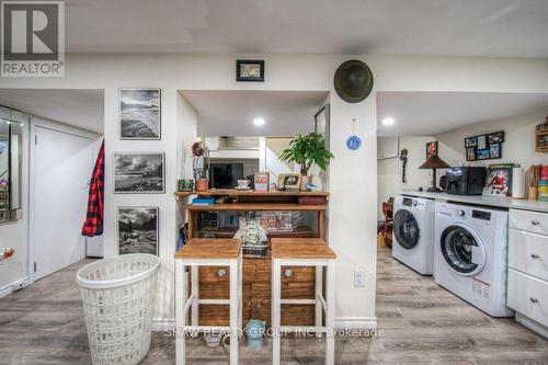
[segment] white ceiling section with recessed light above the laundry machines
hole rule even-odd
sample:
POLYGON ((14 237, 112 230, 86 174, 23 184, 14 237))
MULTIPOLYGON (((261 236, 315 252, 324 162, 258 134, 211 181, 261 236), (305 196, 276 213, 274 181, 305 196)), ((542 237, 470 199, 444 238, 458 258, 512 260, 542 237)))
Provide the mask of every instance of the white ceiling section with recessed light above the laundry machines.
POLYGON ((379 92, 379 136, 435 136, 548 107, 548 94, 494 92, 379 92), (392 117, 396 123, 384 126, 392 117))

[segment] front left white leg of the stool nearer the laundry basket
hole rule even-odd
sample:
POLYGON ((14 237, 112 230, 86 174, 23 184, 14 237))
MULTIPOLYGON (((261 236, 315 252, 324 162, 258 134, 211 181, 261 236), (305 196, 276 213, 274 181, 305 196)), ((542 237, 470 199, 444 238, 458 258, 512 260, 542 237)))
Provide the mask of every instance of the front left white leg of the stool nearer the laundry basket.
POLYGON ((181 260, 175 260, 175 363, 185 364, 184 326, 186 312, 186 274, 181 260))

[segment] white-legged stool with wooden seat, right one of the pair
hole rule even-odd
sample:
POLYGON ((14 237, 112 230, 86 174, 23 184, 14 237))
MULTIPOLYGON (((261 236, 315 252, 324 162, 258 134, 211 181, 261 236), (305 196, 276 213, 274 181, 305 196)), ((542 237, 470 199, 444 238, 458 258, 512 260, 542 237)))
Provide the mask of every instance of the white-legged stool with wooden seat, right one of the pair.
POLYGON ((283 330, 326 332, 326 365, 334 364, 334 284, 335 253, 319 238, 273 238, 272 239, 272 364, 279 365, 281 334, 283 330), (316 298, 282 299, 282 266, 315 266, 316 298), (327 269, 326 298, 323 298, 322 270, 327 269), (282 305, 316 305, 315 327, 287 327, 281 323, 282 305), (326 326, 322 313, 326 312, 326 326))

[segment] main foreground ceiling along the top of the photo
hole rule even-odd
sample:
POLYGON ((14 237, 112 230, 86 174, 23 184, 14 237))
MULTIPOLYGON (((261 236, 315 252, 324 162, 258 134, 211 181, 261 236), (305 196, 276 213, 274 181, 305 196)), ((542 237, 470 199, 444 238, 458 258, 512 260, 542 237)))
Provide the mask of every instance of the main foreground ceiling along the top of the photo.
POLYGON ((548 57, 546 0, 67 0, 75 53, 548 57))

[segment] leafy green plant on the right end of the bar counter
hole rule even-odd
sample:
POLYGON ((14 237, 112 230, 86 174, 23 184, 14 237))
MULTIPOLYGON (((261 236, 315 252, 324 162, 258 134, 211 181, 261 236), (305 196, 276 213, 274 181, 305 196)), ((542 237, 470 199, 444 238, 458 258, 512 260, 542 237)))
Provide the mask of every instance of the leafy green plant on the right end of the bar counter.
POLYGON ((293 138, 289 148, 285 149, 279 156, 282 161, 294 161, 300 164, 301 183, 300 190, 307 190, 306 184, 310 180, 308 172, 312 164, 317 164, 321 170, 328 169, 329 159, 333 158, 326 148, 323 136, 317 133, 310 133, 302 136, 298 134, 293 138))

